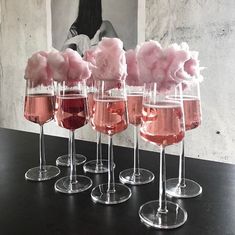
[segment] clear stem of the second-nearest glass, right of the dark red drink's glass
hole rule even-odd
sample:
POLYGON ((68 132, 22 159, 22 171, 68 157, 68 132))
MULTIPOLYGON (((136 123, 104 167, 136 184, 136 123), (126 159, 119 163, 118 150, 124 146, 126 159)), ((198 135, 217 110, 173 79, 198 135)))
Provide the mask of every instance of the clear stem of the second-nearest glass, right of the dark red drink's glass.
POLYGON ((113 167, 113 139, 112 136, 108 137, 108 193, 115 192, 114 184, 114 167, 113 167))

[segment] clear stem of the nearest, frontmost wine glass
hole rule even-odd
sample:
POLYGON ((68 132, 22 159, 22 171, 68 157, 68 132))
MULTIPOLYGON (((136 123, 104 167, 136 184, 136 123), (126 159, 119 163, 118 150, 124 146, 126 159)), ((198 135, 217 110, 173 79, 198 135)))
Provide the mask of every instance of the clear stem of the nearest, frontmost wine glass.
POLYGON ((159 207, 158 212, 166 213, 166 158, 165 147, 160 148, 160 172, 159 172, 159 207))

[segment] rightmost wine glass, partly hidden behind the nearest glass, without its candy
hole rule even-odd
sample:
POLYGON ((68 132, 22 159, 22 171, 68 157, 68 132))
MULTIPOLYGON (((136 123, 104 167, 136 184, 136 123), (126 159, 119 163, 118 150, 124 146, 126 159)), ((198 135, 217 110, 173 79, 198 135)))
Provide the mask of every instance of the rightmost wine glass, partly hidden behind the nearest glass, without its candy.
MULTIPOLYGON (((186 131, 201 124, 200 86, 198 81, 188 82, 183 90, 183 104, 186 131)), ((192 198, 202 193, 202 187, 195 181, 185 178, 184 140, 181 142, 178 178, 168 179, 166 193, 177 198, 192 198)))

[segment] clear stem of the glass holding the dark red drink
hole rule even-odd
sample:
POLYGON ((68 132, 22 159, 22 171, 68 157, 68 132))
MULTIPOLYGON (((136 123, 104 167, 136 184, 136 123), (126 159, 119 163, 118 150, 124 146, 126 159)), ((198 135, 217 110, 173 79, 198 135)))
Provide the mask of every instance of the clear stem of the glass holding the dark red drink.
POLYGON ((69 131, 69 157, 70 157, 70 183, 76 183, 76 165, 75 165, 75 141, 74 131, 69 131))

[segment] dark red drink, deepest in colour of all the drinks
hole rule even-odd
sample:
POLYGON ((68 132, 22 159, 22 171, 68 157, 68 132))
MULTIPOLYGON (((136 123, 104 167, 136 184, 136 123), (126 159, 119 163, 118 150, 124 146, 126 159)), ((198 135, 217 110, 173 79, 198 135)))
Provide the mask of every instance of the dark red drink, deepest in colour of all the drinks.
POLYGON ((87 123, 86 97, 66 94, 56 97, 55 119, 59 126, 76 130, 87 123))

